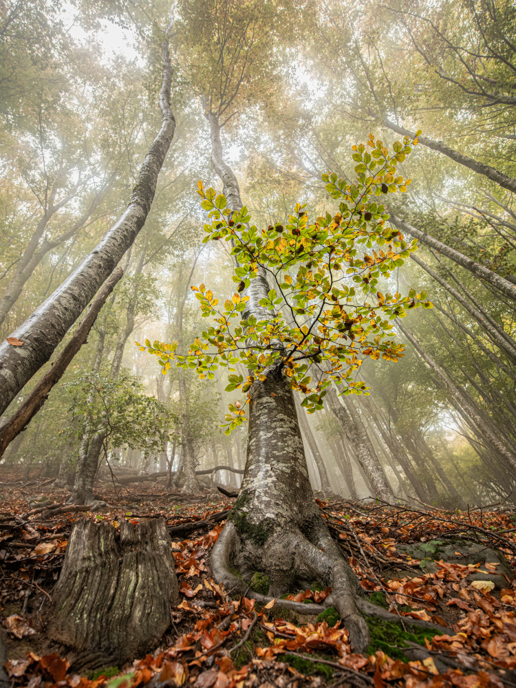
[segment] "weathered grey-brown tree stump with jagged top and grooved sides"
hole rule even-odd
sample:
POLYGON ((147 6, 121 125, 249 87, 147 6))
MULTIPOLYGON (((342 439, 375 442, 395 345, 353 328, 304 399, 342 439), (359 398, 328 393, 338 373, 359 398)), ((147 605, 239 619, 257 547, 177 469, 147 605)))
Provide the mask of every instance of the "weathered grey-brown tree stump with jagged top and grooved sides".
POLYGON ((121 521, 119 537, 112 524, 77 522, 52 598, 50 637, 78 651, 80 665, 121 666, 151 652, 179 601, 164 519, 121 521))

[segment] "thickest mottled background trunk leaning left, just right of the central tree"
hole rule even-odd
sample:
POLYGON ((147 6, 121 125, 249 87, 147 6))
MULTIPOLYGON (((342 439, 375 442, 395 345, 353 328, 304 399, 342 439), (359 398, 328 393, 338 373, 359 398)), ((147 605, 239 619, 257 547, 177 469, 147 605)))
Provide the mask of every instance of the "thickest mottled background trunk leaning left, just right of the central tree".
POLYGON ((385 477, 382 466, 380 466, 378 457, 374 449, 372 449, 371 442, 369 442, 369 438, 367 438, 365 434, 363 425, 355 422, 351 414, 352 405, 347 407, 343 406, 338 400, 336 391, 332 387, 327 389, 325 401, 341 424, 347 440, 352 445, 358 462, 361 464, 367 476, 367 482, 369 482, 369 485, 374 491, 374 496, 384 499, 385 502, 392 503, 395 499, 394 493, 391 490, 389 482, 387 482, 387 478, 385 477))

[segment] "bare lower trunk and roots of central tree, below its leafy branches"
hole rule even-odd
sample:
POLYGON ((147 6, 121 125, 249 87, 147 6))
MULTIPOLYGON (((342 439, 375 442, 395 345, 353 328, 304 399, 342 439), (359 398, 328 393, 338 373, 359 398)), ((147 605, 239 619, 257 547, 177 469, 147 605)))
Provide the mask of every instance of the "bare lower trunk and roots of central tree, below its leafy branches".
POLYGON ((292 390, 278 366, 251 388, 247 462, 241 493, 211 557, 215 579, 228 590, 248 590, 267 574, 269 594, 281 596, 314 579, 331 586, 325 601, 338 610, 352 645, 369 643, 358 613, 360 586, 323 522, 308 478, 292 390), (242 579, 230 572, 237 566, 242 579))

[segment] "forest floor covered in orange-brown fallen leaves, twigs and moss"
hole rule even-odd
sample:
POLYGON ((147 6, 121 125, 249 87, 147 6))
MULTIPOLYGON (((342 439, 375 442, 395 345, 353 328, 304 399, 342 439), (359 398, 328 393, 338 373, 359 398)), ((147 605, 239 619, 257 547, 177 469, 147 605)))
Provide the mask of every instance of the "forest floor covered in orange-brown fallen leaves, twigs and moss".
MULTIPOLYGON (((372 641, 361 655, 352 652, 331 608, 322 618, 260 608, 247 597, 232 599, 211 579, 211 547, 233 499, 194 500, 144 482, 117 493, 99 488, 110 506, 89 513, 62 506, 67 493, 48 481, 13 484, 17 476, 6 469, 1 480, 1 632, 12 688, 516 687, 512 507, 449 512, 319 499, 364 594, 393 611, 393 622, 402 621, 369 617, 372 641), (63 649, 45 637, 42 611, 72 525, 85 517, 116 527, 120 519, 158 516, 175 528, 171 546, 182 596, 169 633, 131 666, 76 674, 63 649), (411 626, 411 619, 433 621, 442 631, 411 626)), ((253 585, 266 592, 263 577, 255 576, 253 585)), ((288 599, 305 601, 309 611, 329 592, 293 590, 288 599)))

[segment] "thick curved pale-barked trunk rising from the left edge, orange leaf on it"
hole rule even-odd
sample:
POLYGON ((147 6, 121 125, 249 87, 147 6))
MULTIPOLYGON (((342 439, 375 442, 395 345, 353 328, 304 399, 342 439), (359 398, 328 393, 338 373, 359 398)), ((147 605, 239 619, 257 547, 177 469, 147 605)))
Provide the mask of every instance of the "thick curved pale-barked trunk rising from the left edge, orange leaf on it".
POLYGON ((147 219, 175 129, 170 109, 173 70, 167 41, 162 44, 162 60, 162 127, 142 164, 127 211, 72 275, 15 330, 13 334, 23 341, 23 346, 11 346, 7 341, 0 344, 0 413, 52 356, 63 336, 133 244, 147 219))

